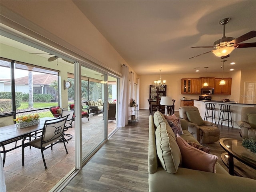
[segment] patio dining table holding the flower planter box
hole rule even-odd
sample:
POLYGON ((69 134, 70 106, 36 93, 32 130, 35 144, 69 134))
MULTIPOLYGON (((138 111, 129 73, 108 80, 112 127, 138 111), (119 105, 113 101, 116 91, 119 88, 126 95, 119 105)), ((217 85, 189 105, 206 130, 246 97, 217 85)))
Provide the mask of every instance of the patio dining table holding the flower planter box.
POLYGON ((25 128, 17 128, 16 124, 8 125, 0 128, 0 146, 2 147, 1 153, 4 153, 3 162, 5 162, 5 154, 11 150, 19 148, 22 144, 18 146, 14 146, 8 150, 6 150, 5 145, 10 144, 12 142, 16 142, 18 140, 22 140, 26 138, 28 135, 31 135, 35 132, 38 132, 43 129, 44 122, 46 120, 56 119, 54 117, 44 117, 39 119, 39 124, 28 126, 25 128))

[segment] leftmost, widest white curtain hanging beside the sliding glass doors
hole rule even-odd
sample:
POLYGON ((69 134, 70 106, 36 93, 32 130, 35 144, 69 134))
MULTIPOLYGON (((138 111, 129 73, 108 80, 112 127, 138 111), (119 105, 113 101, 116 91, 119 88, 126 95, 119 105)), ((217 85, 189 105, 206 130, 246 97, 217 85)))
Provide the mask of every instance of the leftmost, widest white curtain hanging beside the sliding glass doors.
POLYGON ((122 65, 122 84, 119 100, 118 110, 118 124, 117 127, 124 127, 128 125, 128 105, 129 105, 129 68, 126 65, 122 65))

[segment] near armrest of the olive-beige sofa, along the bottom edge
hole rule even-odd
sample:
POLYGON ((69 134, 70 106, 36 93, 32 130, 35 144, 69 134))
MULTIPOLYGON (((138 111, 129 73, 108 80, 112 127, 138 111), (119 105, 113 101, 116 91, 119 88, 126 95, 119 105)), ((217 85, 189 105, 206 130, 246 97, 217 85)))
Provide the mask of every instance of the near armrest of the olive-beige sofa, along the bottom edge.
POLYGON ((252 192, 256 180, 178 168, 175 174, 167 173, 162 167, 148 176, 149 192, 252 192))

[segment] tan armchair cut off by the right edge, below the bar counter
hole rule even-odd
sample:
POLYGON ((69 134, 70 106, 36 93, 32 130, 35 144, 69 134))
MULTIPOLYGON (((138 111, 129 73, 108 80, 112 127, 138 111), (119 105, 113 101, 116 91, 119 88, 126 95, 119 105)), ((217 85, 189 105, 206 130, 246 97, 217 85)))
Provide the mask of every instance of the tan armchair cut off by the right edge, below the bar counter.
POLYGON ((242 138, 256 139, 256 107, 243 107, 241 120, 237 122, 242 132, 242 138))

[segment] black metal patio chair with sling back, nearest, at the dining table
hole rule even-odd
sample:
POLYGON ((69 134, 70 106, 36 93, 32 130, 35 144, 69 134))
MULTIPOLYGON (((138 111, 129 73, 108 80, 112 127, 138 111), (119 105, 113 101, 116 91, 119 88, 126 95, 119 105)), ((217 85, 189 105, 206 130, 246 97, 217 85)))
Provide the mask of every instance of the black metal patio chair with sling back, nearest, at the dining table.
POLYGON ((40 138, 37 138, 27 143, 24 143, 26 138, 22 140, 22 166, 24 166, 24 148, 26 146, 32 146, 41 150, 45 169, 47 169, 47 166, 44 159, 44 150, 48 148, 51 148, 52 150, 52 146, 59 143, 58 141, 60 139, 62 139, 66 153, 68 154, 68 150, 66 148, 66 144, 64 140, 64 127, 67 119, 68 119, 68 115, 64 117, 56 118, 54 120, 46 120, 44 122, 42 136, 40 138))

